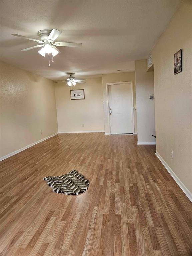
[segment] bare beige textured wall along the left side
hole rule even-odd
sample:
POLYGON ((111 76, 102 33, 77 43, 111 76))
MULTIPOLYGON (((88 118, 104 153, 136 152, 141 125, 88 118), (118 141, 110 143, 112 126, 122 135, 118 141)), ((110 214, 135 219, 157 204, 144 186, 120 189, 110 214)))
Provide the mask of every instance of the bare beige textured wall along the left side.
POLYGON ((53 81, 0 62, 0 157, 56 132, 53 81))

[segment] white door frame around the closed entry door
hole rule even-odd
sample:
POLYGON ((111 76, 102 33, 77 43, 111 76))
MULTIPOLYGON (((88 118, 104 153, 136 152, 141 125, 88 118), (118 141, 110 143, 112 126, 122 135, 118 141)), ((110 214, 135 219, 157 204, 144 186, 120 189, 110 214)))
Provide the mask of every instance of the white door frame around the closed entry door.
POLYGON ((133 81, 128 82, 116 82, 116 83, 106 83, 106 91, 107 91, 107 119, 109 126, 109 134, 111 134, 111 124, 110 124, 110 115, 109 115, 109 85, 116 84, 129 84, 131 85, 131 118, 132 118, 132 131, 135 133, 135 124, 134 124, 134 114, 133 114, 133 81))

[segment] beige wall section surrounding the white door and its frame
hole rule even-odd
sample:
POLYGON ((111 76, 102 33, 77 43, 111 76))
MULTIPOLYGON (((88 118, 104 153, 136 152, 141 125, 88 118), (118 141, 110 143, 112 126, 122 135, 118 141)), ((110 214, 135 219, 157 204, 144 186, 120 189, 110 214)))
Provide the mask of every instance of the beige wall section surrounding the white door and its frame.
MULTIPOLYGON (((109 115, 107 108, 107 87, 106 83, 116 83, 116 82, 129 82, 133 81, 133 106, 136 107, 136 97, 135 97, 135 72, 126 73, 114 73, 114 74, 104 74, 102 75, 103 83, 103 109, 104 109, 104 125, 105 133, 109 133, 109 115)), ((135 132, 137 132, 137 121, 136 121, 136 110, 134 110, 134 125, 135 132)))

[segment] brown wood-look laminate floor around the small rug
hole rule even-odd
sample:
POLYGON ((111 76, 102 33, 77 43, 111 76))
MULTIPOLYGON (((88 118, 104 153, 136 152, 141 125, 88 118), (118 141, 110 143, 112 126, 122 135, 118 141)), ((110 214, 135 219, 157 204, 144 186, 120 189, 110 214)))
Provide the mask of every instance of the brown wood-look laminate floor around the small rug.
POLYGON ((191 256, 192 203, 134 135, 59 134, 0 163, 1 256, 191 256), (77 169, 79 196, 43 178, 77 169))

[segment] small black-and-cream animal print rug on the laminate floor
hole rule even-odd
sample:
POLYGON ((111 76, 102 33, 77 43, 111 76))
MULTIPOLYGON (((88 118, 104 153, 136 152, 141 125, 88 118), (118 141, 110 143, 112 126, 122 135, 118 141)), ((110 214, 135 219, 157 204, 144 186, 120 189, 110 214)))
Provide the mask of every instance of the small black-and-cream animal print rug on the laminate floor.
POLYGON ((77 170, 72 170, 61 176, 47 176, 44 178, 55 193, 66 195, 80 195, 87 191, 89 181, 77 170))

